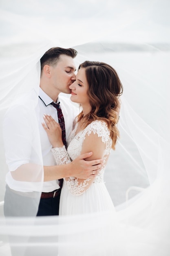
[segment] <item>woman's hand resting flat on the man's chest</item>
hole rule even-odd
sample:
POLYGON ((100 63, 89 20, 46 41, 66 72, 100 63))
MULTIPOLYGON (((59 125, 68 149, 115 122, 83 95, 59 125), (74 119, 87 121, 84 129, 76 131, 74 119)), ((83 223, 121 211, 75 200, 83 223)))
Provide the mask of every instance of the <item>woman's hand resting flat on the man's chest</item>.
POLYGON ((49 137, 50 143, 52 144, 53 148, 61 148, 63 146, 63 142, 60 124, 58 124, 50 115, 44 114, 43 118, 46 125, 42 123, 42 126, 49 137))

